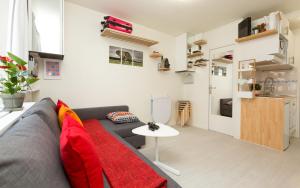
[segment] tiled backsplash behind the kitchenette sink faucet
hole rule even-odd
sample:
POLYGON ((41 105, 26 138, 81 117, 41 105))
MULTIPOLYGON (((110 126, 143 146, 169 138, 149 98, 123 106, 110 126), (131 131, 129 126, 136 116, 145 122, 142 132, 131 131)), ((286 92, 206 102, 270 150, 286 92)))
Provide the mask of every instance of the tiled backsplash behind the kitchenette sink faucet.
POLYGON ((264 81, 267 77, 274 79, 274 95, 297 95, 297 71, 265 71, 256 72, 256 83, 261 84, 264 91, 264 81))

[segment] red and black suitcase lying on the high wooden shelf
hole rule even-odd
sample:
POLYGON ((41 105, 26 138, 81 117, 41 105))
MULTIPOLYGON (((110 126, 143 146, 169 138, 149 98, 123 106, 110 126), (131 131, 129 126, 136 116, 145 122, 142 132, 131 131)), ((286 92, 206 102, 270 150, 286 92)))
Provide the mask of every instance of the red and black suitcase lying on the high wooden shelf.
POLYGON ((103 32, 106 28, 121 31, 124 33, 132 33, 132 24, 121 19, 112 17, 112 16, 105 16, 104 21, 101 22, 103 32))

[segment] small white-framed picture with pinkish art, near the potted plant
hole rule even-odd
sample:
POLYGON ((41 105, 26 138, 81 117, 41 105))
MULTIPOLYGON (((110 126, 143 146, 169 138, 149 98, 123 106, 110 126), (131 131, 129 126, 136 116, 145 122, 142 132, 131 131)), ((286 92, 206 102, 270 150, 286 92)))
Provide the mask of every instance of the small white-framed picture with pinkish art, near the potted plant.
POLYGON ((44 79, 59 80, 61 79, 61 60, 45 59, 44 60, 44 79))

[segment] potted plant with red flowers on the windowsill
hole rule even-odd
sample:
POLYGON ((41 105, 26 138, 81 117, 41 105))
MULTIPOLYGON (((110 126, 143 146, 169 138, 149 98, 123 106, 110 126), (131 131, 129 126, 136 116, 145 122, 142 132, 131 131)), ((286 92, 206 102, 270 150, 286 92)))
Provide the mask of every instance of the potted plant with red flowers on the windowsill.
POLYGON ((6 111, 21 110, 26 91, 38 81, 38 78, 28 75, 26 65, 26 61, 12 53, 8 53, 8 57, 0 56, 0 69, 6 73, 0 79, 0 98, 6 111))

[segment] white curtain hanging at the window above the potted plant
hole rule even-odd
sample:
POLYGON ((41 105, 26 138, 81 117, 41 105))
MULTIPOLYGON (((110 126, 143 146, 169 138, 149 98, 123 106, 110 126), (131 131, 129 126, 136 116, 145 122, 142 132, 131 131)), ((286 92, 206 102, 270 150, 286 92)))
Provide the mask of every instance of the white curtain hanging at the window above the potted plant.
POLYGON ((7 51, 28 60, 28 0, 10 0, 7 51))

